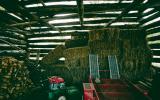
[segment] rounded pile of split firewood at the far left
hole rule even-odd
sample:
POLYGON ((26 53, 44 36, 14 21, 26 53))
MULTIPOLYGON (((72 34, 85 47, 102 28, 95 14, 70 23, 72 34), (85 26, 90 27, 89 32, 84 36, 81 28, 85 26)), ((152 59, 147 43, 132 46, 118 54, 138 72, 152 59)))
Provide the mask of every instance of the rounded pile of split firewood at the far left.
POLYGON ((32 86, 23 62, 12 57, 0 58, 0 100, 13 100, 32 86))

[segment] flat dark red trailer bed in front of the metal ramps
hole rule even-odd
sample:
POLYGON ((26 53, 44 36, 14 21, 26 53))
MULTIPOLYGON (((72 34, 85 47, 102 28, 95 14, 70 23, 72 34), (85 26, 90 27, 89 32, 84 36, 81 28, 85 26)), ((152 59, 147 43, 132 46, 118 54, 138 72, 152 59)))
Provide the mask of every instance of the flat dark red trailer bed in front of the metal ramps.
POLYGON ((97 97, 99 100, 150 100, 120 79, 101 79, 100 83, 93 84, 96 90, 93 95, 95 100, 98 100, 97 97))

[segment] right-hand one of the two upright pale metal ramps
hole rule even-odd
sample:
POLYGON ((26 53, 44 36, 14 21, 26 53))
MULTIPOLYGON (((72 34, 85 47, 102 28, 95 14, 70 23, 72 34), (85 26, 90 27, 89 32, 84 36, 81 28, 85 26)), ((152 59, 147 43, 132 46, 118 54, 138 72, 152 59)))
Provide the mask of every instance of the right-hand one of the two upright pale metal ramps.
POLYGON ((109 55, 108 62, 109 62, 109 69, 110 69, 110 78, 111 79, 120 79, 116 55, 109 55))

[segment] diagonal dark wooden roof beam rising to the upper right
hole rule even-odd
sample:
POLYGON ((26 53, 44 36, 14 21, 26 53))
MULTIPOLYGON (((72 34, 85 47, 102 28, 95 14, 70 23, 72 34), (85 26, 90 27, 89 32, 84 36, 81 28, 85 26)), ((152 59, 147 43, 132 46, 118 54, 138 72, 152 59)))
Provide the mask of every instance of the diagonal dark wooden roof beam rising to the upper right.
POLYGON ((137 6, 140 6, 140 3, 142 3, 142 1, 144 1, 144 0, 134 0, 134 2, 133 2, 132 4, 130 4, 130 5, 128 5, 128 6, 122 11, 122 13, 121 13, 119 16, 117 16, 116 19, 113 19, 113 20, 109 21, 109 22, 105 25, 105 27, 108 27, 108 26, 110 26, 112 23, 114 23, 114 22, 118 21, 119 19, 121 19, 124 15, 126 15, 129 11, 131 11, 131 9, 134 9, 134 8, 136 8, 137 6))

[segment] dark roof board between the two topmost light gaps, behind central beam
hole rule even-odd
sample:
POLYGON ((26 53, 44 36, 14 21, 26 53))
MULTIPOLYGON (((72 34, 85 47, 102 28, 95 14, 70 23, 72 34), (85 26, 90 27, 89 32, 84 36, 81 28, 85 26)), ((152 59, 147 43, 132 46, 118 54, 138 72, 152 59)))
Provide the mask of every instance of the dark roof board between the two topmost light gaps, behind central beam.
MULTIPOLYGON (((85 4, 84 11, 85 12, 93 12, 93 11, 106 11, 106 10, 122 10, 130 3, 104 3, 104 4, 85 4), (95 9, 96 8, 96 9, 95 9), (93 10, 94 9, 94 10, 93 10)), ((45 9, 43 7, 31 7, 28 8, 30 12, 37 12, 37 13, 77 13, 77 6, 76 5, 54 5, 54 6, 47 6, 45 9)))

